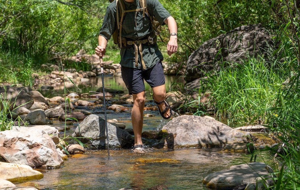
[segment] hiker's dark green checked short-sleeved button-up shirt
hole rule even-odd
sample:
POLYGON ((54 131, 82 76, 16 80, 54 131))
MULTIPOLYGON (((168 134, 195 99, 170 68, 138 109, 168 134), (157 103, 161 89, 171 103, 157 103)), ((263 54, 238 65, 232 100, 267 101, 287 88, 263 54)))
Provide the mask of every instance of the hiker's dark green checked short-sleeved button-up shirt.
MULTIPOLYGON (((140 9, 139 0, 135 0, 133 3, 124 1, 126 10, 140 9)), ((171 16, 170 13, 162 6, 158 0, 147 0, 148 12, 155 17, 162 25, 164 21, 171 16)), ((121 16, 121 15, 120 15, 121 16)), ((151 34, 152 23, 150 19, 145 15, 143 18, 143 11, 128 12, 125 14, 125 19, 122 23, 122 37, 126 37, 132 40, 144 39, 148 34, 151 34)), ((99 35, 110 39, 115 30, 118 30, 116 19, 116 0, 113 1, 106 10, 104 21, 100 29, 99 35)), ((157 44, 147 45, 142 44, 143 48, 143 60, 146 68, 149 69, 155 65, 159 60, 163 60, 161 51, 159 51, 157 44)), ((121 62, 120 64, 125 67, 136 68, 135 66, 135 54, 134 46, 121 49, 121 62)), ((141 68, 141 57, 139 55, 138 69, 141 68)))

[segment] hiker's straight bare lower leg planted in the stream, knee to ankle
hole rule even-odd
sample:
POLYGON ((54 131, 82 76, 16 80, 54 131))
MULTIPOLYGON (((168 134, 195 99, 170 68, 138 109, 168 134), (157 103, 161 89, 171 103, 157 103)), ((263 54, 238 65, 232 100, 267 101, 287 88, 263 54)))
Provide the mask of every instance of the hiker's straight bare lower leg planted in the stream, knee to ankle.
POLYGON ((145 91, 133 94, 133 100, 134 104, 131 110, 131 122, 134 132, 134 145, 143 145, 142 129, 145 107, 145 91))

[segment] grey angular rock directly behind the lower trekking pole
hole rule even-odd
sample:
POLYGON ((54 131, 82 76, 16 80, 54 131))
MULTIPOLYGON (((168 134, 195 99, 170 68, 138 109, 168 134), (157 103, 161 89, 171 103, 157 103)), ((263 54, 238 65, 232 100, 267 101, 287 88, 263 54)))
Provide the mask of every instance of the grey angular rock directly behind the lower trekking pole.
MULTIPOLYGON (((125 130, 107 123, 108 139, 110 148, 129 148, 133 145, 133 137, 125 130)), ((88 115, 76 128, 73 137, 90 137, 80 139, 83 143, 88 143, 88 148, 104 149, 107 148, 105 120, 98 115, 88 115), (79 133, 80 127, 80 133, 79 133)))

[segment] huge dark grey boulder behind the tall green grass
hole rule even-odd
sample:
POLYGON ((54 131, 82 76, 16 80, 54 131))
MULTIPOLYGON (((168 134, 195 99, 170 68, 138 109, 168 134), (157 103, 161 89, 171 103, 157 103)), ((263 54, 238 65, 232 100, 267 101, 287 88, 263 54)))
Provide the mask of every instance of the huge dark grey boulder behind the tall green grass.
POLYGON ((205 76, 206 72, 219 71, 222 62, 240 62, 248 53, 250 57, 264 52, 271 44, 271 35, 261 25, 240 26, 209 39, 195 50, 187 60, 188 82, 205 76))

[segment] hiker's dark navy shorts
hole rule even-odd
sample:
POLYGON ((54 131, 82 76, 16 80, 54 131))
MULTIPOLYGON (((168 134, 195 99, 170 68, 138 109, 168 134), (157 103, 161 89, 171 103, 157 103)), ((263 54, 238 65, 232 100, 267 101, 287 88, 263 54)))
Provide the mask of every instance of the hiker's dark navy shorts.
POLYGON ((129 94, 138 94, 145 91, 144 80, 151 88, 165 84, 164 69, 161 61, 150 69, 142 70, 122 66, 121 71, 129 94))

